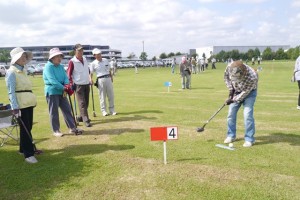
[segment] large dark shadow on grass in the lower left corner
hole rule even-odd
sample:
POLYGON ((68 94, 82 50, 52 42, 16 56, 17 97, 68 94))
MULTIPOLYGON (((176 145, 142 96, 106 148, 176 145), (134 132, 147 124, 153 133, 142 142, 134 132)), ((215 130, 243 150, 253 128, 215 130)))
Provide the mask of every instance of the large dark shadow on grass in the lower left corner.
POLYGON ((101 163, 83 156, 133 148, 133 145, 70 145, 64 149, 46 150, 37 156, 39 162, 36 164, 26 163, 15 151, 1 152, 1 196, 4 199, 51 199, 52 193, 60 188, 79 187, 74 179, 84 177, 89 168, 94 169, 101 163))

